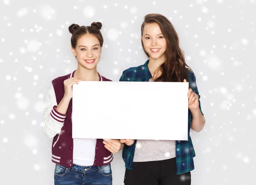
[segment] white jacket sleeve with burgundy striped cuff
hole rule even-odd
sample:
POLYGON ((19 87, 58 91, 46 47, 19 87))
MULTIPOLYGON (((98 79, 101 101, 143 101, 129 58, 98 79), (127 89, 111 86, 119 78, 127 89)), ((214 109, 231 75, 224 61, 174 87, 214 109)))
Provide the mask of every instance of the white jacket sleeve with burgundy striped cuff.
POLYGON ((66 114, 61 114, 56 110, 57 101, 52 84, 49 86, 44 98, 44 117, 43 132, 48 138, 53 138, 57 133, 61 132, 64 125, 66 114))

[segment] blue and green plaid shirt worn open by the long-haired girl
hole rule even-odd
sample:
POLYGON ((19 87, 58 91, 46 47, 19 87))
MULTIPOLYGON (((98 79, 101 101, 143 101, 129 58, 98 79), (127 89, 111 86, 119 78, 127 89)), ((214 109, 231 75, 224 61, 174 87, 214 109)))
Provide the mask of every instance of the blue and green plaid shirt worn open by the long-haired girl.
MULTIPOLYGON (((148 60, 149 61, 149 60, 148 60)), ((148 70, 148 61, 145 64, 137 67, 131 67, 126 69, 119 81, 148 81, 152 78, 148 70)), ((198 88, 195 82, 195 75, 193 72, 189 72, 189 87, 194 93, 198 93, 198 88)), ((199 108, 201 110, 201 104, 199 101, 199 108)), ((195 156, 195 150, 192 144, 191 137, 189 136, 190 125, 192 115, 190 110, 188 111, 188 141, 176 141, 176 164, 177 164, 177 175, 192 171, 194 167, 193 157, 195 156)), ((202 111, 201 111, 202 112, 202 111)), ((203 113, 202 113, 203 114, 203 113)), ((204 115, 204 114, 203 114, 204 115)), ((137 140, 131 146, 125 145, 122 150, 122 158, 125 162, 125 168, 132 170, 132 164, 134 159, 134 151, 137 140)))

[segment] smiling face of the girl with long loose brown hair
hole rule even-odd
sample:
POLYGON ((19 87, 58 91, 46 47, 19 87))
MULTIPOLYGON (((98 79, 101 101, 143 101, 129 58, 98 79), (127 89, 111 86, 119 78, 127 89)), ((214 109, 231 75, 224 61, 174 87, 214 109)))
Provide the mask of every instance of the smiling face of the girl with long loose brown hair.
POLYGON ((166 39, 157 23, 146 23, 141 39, 149 58, 165 60, 166 39))

